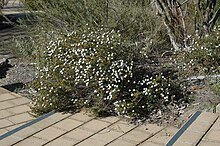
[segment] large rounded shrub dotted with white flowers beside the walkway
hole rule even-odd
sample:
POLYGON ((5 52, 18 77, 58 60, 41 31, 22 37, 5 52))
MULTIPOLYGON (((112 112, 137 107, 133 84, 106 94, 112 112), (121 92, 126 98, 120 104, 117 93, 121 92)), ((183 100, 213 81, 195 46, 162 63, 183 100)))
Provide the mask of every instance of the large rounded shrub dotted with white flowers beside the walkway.
POLYGON ((98 115, 144 118, 183 97, 168 75, 138 67, 143 56, 137 54, 114 30, 60 34, 39 58, 34 111, 89 107, 98 115))

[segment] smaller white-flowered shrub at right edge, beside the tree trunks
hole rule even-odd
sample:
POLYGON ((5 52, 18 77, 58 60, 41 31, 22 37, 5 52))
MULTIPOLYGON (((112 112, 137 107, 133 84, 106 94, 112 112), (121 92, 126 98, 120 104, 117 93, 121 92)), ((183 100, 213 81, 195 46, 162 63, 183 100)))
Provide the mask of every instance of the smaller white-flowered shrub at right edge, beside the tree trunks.
POLYGON ((188 76, 220 72, 220 26, 208 36, 189 37, 190 44, 175 50, 175 64, 188 76))

